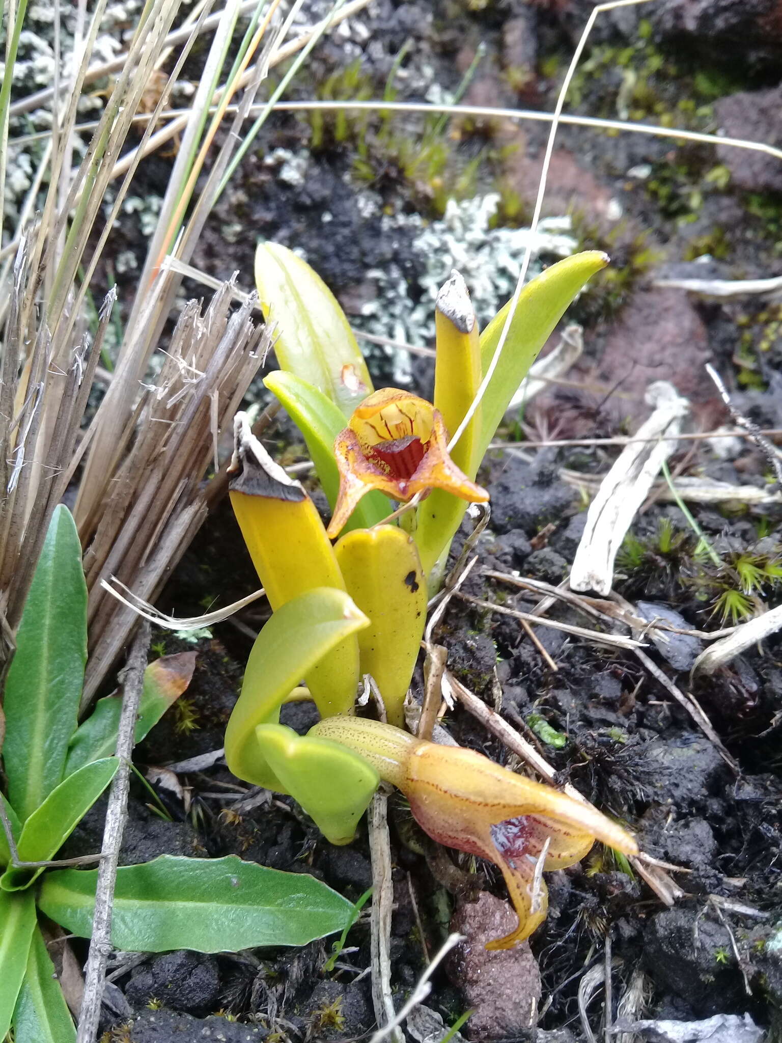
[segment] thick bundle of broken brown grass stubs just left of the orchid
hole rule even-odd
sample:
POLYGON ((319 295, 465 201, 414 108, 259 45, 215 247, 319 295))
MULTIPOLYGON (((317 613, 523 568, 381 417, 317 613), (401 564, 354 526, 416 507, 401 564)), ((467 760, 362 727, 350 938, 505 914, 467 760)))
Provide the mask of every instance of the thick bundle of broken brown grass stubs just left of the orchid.
MULTIPOLYGON (((84 557, 90 589, 90 661, 84 704, 118 655, 137 609, 106 592, 116 577, 135 600, 151 601, 206 513, 201 477, 213 459, 213 403, 220 429, 230 425, 254 374, 265 331, 254 328, 250 298, 233 315, 231 283, 202 313, 191 301, 174 330, 156 387, 148 388, 138 421, 120 432, 124 460, 94 517, 84 557)), ((119 455, 119 454, 118 454, 119 455)))

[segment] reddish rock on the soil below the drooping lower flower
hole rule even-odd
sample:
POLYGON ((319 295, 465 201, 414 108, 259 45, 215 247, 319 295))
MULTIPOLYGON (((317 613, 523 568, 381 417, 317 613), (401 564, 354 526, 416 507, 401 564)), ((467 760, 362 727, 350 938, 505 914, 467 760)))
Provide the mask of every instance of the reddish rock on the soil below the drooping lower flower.
POLYGON ((460 902, 450 923, 465 941, 453 950, 448 974, 474 1011, 463 1032, 481 1043, 521 1036, 540 1000, 540 972, 527 942, 514 949, 485 947, 516 923, 508 902, 485 891, 476 902, 460 902))

